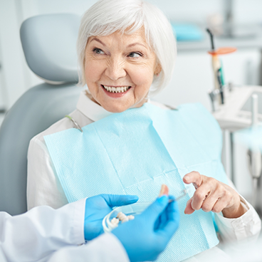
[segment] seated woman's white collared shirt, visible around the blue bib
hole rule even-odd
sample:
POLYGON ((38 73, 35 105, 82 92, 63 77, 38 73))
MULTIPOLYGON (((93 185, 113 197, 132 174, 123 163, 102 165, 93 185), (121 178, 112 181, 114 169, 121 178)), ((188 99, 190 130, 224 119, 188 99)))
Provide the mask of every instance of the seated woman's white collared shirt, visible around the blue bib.
MULTIPOLYGON (((165 105, 150 101, 160 108, 167 108, 165 105)), ((84 127, 92 122, 102 119, 112 113, 106 111, 100 105, 94 103, 85 95, 85 90, 80 94, 77 109, 70 116, 84 127)), ((47 130, 33 137, 28 149, 28 182, 27 182, 27 203, 28 209, 33 206, 48 205, 57 209, 68 203, 66 195, 63 192, 56 169, 48 153, 43 136, 55 132, 67 130, 73 127, 73 122, 68 118, 51 125, 47 130)), ((234 187, 231 181, 229 184, 234 187)), ((219 227, 221 239, 234 241, 246 239, 251 236, 258 236, 261 231, 261 220, 253 206, 241 197, 241 204, 246 209, 246 213, 238 219, 226 219, 221 214, 215 214, 216 224, 219 227)), ((203 256, 209 252, 221 251, 214 247, 199 255, 189 258, 188 261, 202 260, 203 256)))

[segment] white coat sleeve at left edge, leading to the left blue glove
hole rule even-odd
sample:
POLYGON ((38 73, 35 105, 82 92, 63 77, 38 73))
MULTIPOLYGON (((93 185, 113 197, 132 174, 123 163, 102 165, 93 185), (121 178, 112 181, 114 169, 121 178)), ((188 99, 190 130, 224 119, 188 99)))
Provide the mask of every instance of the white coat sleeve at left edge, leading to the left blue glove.
POLYGON ((85 199, 56 210, 38 206, 19 216, 0 212, 0 253, 6 261, 38 261, 85 243, 84 217, 85 199))

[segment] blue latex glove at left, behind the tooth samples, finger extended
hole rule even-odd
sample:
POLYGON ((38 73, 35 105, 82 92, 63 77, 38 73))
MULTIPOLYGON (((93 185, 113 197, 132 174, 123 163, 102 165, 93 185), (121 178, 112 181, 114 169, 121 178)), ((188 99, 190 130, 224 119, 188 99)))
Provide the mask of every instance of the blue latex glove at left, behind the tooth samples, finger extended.
POLYGON ((103 218, 112 211, 114 206, 133 204, 138 196, 100 194, 92 196, 85 201, 85 240, 92 240, 103 234, 103 218))

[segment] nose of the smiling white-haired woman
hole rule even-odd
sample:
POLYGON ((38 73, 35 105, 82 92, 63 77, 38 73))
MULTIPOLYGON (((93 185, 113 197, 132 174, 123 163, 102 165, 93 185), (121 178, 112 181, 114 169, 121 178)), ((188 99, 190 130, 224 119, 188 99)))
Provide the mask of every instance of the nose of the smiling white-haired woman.
POLYGON ((105 70, 105 75, 111 80, 117 80, 124 78, 127 75, 125 70, 125 62, 121 59, 112 59, 109 61, 108 66, 105 70))

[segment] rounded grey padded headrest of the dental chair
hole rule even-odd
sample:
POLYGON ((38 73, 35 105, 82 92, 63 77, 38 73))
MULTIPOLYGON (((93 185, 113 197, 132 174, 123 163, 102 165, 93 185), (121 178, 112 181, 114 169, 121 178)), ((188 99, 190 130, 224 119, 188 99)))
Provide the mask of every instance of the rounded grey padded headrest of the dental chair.
POLYGON ((80 16, 46 14, 23 21, 23 53, 29 68, 51 84, 77 83, 76 41, 80 16))

